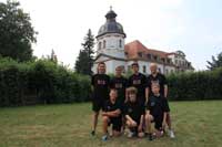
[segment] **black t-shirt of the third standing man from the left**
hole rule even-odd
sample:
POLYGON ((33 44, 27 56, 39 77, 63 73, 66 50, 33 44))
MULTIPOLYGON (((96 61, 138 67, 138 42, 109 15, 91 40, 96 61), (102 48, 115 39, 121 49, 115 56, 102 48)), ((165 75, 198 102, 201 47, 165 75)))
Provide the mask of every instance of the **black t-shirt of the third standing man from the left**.
POLYGON ((131 75, 129 77, 129 86, 137 87, 139 98, 145 98, 145 87, 148 87, 145 75, 141 73, 131 75))

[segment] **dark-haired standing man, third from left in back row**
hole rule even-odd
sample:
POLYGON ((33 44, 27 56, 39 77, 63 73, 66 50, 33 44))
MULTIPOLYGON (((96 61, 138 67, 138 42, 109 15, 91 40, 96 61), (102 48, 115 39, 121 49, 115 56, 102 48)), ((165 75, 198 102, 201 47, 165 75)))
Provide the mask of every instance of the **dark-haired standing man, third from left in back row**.
POLYGON ((139 72, 139 64, 132 64, 133 74, 129 77, 129 86, 134 86, 138 90, 137 98, 139 103, 145 105, 148 102, 148 82, 145 75, 139 72))

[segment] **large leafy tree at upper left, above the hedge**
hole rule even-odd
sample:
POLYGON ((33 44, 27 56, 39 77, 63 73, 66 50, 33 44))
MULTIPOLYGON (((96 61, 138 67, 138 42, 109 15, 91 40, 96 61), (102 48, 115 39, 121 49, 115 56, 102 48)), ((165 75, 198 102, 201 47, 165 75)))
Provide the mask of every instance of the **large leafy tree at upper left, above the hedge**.
POLYGON ((31 43, 37 42, 37 32, 29 13, 19 7, 17 1, 0 2, 0 55, 28 61, 32 59, 31 43))

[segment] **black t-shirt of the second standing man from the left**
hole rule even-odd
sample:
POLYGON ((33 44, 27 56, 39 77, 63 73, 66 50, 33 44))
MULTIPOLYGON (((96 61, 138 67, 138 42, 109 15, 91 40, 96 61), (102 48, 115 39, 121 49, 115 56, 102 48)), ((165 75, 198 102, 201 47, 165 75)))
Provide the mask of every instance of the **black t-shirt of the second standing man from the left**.
POLYGON ((123 76, 113 77, 110 82, 110 87, 118 90, 118 101, 120 102, 124 102, 127 86, 128 80, 123 76))

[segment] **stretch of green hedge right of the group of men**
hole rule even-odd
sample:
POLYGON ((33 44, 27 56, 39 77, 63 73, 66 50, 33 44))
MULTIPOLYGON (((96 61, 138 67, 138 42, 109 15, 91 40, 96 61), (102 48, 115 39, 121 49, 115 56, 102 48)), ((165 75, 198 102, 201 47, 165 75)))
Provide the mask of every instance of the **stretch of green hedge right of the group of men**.
POLYGON ((222 69, 171 74, 168 81, 170 99, 222 99, 222 69))

